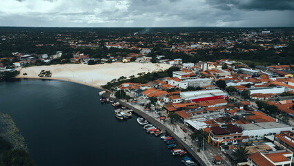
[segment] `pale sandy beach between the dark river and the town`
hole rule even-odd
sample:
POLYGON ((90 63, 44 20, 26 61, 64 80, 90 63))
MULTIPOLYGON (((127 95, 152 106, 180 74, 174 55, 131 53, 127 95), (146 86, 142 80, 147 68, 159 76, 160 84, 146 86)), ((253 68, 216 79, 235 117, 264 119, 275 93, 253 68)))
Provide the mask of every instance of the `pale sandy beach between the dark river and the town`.
POLYGON ((17 78, 35 78, 40 79, 38 74, 42 71, 50 71, 52 77, 45 79, 64 80, 77 82, 101 88, 101 85, 117 79, 121 76, 129 77, 137 73, 148 73, 170 68, 168 64, 139 64, 139 63, 112 63, 112 64, 57 64, 51 66, 33 66, 28 68, 20 68, 20 74, 17 78), (28 75, 23 75, 27 73, 28 75))

